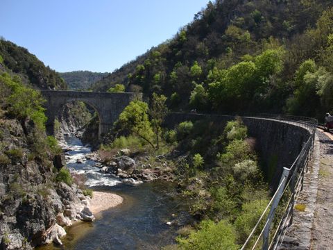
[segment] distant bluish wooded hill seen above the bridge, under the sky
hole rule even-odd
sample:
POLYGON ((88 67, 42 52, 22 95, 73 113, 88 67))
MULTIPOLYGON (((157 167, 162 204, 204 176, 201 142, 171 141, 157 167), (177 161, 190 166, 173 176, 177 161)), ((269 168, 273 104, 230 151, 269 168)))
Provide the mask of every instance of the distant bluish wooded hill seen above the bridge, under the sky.
POLYGON ((58 73, 66 81, 68 88, 71 90, 87 90, 92 86, 92 83, 100 81, 103 77, 108 76, 109 73, 98 73, 85 71, 74 71, 58 73))

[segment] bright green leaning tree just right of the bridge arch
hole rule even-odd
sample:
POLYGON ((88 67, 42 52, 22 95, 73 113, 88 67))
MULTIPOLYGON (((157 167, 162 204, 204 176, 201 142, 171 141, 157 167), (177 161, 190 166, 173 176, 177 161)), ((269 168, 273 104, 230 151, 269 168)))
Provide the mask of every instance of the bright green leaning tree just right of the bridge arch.
POLYGON ((117 125, 122 130, 126 130, 142 138, 155 149, 154 144, 151 142, 153 131, 151 129, 151 122, 148 119, 147 103, 143 101, 131 101, 119 115, 117 125))

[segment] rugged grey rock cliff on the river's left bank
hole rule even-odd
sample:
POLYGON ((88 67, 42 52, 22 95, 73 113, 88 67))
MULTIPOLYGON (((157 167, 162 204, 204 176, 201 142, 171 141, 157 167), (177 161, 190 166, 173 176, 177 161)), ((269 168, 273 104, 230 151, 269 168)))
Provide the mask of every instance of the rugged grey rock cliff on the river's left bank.
POLYGON ((76 184, 55 181, 52 155, 35 153, 33 124, 0 119, 0 245, 32 249, 66 234, 62 226, 94 220, 89 197, 76 184))

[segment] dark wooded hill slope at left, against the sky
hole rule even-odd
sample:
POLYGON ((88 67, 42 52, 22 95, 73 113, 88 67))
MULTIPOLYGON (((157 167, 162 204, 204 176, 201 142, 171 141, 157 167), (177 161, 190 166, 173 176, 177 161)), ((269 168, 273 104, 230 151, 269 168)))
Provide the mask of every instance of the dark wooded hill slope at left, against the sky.
POLYGON ((24 83, 44 90, 65 90, 67 85, 58 73, 45 66, 28 49, 13 42, 0 40, 0 56, 3 64, 12 72, 19 74, 24 83))

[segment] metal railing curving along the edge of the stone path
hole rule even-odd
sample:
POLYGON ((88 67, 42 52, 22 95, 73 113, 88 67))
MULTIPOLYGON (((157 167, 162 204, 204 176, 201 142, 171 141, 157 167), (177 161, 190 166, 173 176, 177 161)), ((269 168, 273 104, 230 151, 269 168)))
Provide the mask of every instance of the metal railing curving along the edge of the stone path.
POLYGON ((241 117, 272 119, 306 128, 309 138, 290 168, 284 167, 278 189, 266 206, 262 216, 251 231, 241 250, 245 249, 280 249, 286 229, 293 222, 293 208, 298 193, 303 188, 304 174, 308 170, 309 160, 314 147, 317 120, 309 117, 289 115, 252 115, 238 114, 241 117), (279 215, 277 210, 282 210, 279 215), (269 212, 268 212, 269 211, 269 212), (268 213, 268 215, 267 215, 268 213), (267 215, 267 216, 266 216, 267 215), (264 220, 266 219, 266 221, 264 220), (261 226, 264 224, 264 226, 261 226), (273 227, 272 227, 273 224, 273 227))

